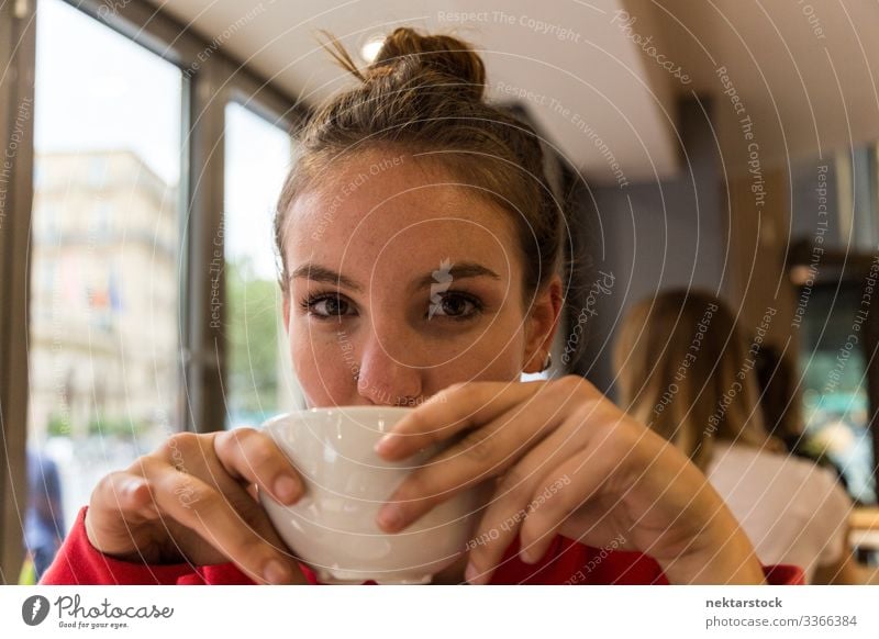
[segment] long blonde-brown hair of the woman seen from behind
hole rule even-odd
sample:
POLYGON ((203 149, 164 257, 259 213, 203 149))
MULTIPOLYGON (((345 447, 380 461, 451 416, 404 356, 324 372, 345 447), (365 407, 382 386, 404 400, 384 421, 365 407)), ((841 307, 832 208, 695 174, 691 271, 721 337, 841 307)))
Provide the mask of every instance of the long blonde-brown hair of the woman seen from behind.
POLYGON ((623 407, 702 470, 715 439, 782 450, 766 435, 735 317, 714 295, 675 290, 635 304, 613 360, 623 407))

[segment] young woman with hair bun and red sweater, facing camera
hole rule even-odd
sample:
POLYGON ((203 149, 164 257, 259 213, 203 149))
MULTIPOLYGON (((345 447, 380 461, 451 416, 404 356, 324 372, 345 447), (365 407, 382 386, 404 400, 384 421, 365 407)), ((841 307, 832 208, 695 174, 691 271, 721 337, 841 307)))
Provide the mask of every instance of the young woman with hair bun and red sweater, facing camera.
MULTIPOLYGON (((378 525, 489 479, 474 536, 489 542, 436 583, 797 583, 760 564, 685 455, 587 381, 519 381, 548 359, 565 221, 534 132, 486 103, 479 56, 410 29, 365 71, 334 55, 359 83, 299 136, 276 221, 296 375, 309 406, 416 406, 387 459, 464 435, 378 525)), ((100 482, 42 583, 314 583, 254 486, 303 491, 258 430, 176 435, 100 482)))

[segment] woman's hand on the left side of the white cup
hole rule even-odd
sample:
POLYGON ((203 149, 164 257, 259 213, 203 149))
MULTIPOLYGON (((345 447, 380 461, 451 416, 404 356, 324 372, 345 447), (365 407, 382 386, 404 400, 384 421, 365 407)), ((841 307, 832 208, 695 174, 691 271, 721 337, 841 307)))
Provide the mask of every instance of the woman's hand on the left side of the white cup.
POLYGON ((253 428, 179 433, 101 480, 86 531, 94 548, 125 561, 233 561, 257 582, 305 583, 255 486, 283 504, 302 494, 299 475, 271 438, 253 428))

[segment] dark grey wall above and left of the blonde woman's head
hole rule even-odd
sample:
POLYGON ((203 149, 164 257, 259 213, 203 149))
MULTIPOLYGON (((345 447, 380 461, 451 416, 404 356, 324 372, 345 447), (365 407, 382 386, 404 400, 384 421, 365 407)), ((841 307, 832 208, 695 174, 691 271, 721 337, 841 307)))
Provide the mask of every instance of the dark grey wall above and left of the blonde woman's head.
POLYGON ((570 299, 569 337, 585 343, 572 371, 612 396, 612 340, 633 303, 676 287, 725 296, 728 217, 709 107, 696 99, 679 107, 681 170, 675 178, 623 188, 590 188, 587 178, 577 193, 576 250, 591 267, 570 299), (611 279, 612 288, 605 285, 611 279), (586 339, 574 335, 578 318, 586 339))

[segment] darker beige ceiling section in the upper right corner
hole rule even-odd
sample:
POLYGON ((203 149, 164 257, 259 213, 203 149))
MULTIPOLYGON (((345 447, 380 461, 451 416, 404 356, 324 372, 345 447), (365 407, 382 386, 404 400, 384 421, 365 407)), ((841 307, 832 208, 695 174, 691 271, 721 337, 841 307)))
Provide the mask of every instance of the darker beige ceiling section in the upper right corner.
MULTIPOLYGON (((661 46, 687 60, 714 100, 726 170, 746 169, 747 142, 715 72, 725 66, 754 121, 764 167, 826 157, 879 139, 879 2, 649 0, 661 46)), ((633 9, 633 12, 635 10, 633 9)))

